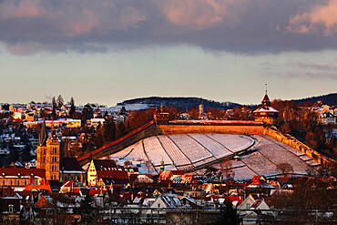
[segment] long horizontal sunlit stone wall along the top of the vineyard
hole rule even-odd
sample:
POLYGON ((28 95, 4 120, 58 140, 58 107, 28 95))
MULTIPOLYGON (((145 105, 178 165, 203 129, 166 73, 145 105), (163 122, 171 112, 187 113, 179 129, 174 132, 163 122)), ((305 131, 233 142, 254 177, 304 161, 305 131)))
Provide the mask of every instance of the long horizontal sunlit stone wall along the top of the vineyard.
POLYGON ((263 126, 159 125, 163 134, 263 134, 263 126))

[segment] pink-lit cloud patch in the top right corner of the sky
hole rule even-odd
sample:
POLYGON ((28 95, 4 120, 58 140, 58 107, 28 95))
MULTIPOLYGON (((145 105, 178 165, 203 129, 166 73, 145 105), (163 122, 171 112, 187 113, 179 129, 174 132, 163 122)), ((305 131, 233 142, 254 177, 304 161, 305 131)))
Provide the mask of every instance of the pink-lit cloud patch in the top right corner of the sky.
POLYGON ((309 12, 292 15, 288 30, 294 33, 320 33, 332 36, 337 33, 337 0, 330 0, 326 5, 313 5, 309 12))

